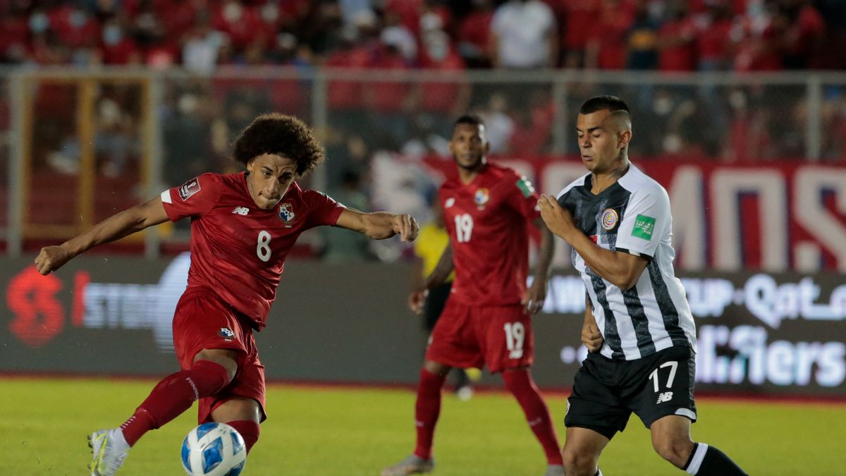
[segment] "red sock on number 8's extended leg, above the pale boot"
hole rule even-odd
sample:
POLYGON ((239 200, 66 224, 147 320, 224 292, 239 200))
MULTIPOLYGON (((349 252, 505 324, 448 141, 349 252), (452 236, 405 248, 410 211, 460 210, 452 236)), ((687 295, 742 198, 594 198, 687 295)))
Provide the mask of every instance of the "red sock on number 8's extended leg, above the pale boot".
POLYGON ((135 414, 120 425, 129 446, 151 429, 177 418, 195 400, 212 396, 229 383, 229 373, 219 363, 199 360, 194 367, 170 374, 150 392, 135 414))

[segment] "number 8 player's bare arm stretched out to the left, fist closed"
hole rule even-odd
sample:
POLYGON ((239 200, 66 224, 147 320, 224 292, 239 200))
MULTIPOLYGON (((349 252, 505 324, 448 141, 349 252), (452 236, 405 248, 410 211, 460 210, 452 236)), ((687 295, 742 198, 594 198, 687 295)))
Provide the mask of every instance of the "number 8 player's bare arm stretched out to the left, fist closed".
POLYGON ((50 274, 68 263, 76 255, 90 250, 94 246, 108 243, 132 235, 136 231, 168 221, 164 211, 162 197, 157 196, 149 202, 135 205, 123 212, 112 215, 58 246, 45 246, 36 257, 36 268, 41 274, 50 274))

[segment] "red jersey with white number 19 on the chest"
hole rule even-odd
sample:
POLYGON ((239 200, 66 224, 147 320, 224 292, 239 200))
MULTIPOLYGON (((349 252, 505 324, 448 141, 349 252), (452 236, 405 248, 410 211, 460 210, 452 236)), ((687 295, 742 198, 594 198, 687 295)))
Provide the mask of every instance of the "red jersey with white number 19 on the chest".
POLYGON ((439 191, 455 280, 452 298, 469 306, 519 304, 529 272, 527 223, 541 216, 525 177, 488 163, 469 184, 455 175, 439 191))

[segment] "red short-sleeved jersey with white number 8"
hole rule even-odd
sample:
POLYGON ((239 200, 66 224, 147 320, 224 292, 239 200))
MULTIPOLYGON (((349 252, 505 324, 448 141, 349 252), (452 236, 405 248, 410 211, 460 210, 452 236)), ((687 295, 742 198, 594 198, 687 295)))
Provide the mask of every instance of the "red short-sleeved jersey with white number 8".
POLYGON ((246 174, 202 174, 162 192, 172 221, 191 217, 188 289, 206 288, 250 318, 255 329, 267 312, 299 234, 334 225, 343 205, 319 191, 288 187, 272 210, 255 205, 246 174))

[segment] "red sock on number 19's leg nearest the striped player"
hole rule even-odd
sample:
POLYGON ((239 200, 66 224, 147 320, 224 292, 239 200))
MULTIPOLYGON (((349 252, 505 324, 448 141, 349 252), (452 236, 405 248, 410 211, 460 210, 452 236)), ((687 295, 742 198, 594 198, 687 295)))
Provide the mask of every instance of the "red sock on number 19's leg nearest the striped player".
POLYGON ((558 445, 558 436, 555 434, 552 418, 549 417, 549 409, 532 381, 529 370, 506 370, 503 372, 503 380, 508 391, 514 395, 520 407, 523 407, 531 430, 547 454, 548 464, 563 464, 561 446, 558 445))

